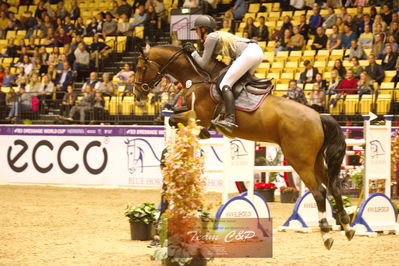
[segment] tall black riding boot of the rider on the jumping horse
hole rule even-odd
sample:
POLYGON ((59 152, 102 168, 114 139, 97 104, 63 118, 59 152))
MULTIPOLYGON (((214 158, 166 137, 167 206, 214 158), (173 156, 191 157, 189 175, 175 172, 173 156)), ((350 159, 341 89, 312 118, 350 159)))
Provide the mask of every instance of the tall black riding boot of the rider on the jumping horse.
POLYGON ((234 95, 233 92, 231 91, 230 86, 228 85, 223 86, 222 96, 224 101, 224 107, 226 109, 226 115, 224 120, 213 121, 213 124, 231 133, 237 127, 237 125, 235 124, 236 116, 235 116, 234 95))

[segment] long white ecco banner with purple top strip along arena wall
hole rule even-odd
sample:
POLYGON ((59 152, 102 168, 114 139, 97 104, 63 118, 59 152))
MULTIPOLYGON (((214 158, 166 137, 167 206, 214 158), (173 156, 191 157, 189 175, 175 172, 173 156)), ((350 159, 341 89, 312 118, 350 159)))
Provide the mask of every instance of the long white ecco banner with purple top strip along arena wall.
MULTIPOLYGON (((158 188, 164 148, 164 127, 2 125, 0 182, 158 188)), ((207 168, 222 168, 221 146, 203 150, 207 168)), ((222 190, 222 172, 206 176, 222 190)))

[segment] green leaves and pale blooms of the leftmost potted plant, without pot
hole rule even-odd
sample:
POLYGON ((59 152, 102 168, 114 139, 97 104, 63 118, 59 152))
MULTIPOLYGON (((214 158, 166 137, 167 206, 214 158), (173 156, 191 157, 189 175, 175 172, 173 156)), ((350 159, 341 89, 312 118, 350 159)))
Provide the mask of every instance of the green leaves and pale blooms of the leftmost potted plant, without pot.
POLYGON ((125 209, 125 216, 129 217, 131 223, 150 224, 156 219, 157 208, 154 203, 142 203, 140 205, 128 204, 125 209))

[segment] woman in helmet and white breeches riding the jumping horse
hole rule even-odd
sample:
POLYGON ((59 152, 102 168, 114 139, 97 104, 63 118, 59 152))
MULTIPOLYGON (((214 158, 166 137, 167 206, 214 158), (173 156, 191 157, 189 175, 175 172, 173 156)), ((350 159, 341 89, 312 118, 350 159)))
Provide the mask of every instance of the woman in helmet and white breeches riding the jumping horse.
POLYGON ((228 32, 214 31, 216 21, 208 15, 199 16, 194 22, 194 27, 200 41, 204 41, 202 57, 190 42, 185 43, 183 48, 201 68, 205 68, 212 58, 219 55, 233 61, 220 83, 226 116, 224 120, 212 121, 215 126, 231 133, 237 127, 232 87, 246 72, 250 74, 255 72, 263 60, 262 48, 254 40, 239 38, 228 32))

